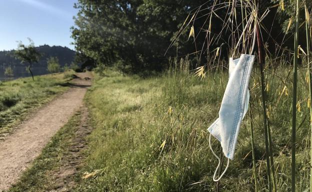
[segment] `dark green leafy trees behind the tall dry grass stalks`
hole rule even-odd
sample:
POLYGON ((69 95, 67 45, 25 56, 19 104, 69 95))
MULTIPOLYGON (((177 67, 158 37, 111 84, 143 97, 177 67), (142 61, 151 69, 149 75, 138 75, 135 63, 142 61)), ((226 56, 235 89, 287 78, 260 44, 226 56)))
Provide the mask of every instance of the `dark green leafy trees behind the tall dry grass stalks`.
MULTIPOLYGON (((229 42, 229 37, 235 33, 228 30, 222 20, 228 14, 226 3, 219 4, 221 8, 213 10, 208 18, 213 2, 215 1, 79 0, 75 4, 78 14, 75 17, 75 26, 72 27, 72 38, 78 55, 84 60, 89 58, 97 65, 114 65, 125 72, 159 71, 165 68, 166 58, 187 54, 190 54, 190 68, 210 63, 213 65, 215 51, 212 50, 221 47, 219 55, 227 58, 229 46, 233 43, 229 42), (210 19, 211 25, 208 22, 210 19), (192 26, 195 45, 192 39, 187 41, 192 26), (218 36, 218 40, 211 40, 207 48, 208 29, 211 36, 218 36), (176 41, 170 46, 173 39, 176 41)), ((237 3, 235 23, 240 31, 242 17, 240 2, 237 3)), ((262 0, 259 3, 259 14, 269 7, 265 19, 261 21, 261 35, 266 39, 266 50, 272 55, 277 52, 279 55, 276 57, 282 54, 282 51, 276 51, 276 44, 285 48, 287 43, 291 43, 289 36, 283 36, 294 12, 293 3, 291 0, 262 0), (284 10, 281 10, 282 2, 284 10)), ((310 8, 309 1, 308 9, 310 8)), ((301 13, 304 14, 303 6, 301 13)), ((292 26, 293 24, 288 29, 289 34, 292 26)), ((304 41, 299 44, 303 45, 304 41)))

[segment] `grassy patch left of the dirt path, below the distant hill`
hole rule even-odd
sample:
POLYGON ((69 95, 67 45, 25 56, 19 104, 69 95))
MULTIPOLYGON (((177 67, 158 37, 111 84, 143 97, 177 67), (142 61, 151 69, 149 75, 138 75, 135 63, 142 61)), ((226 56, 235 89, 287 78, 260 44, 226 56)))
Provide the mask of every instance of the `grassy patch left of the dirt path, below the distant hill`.
MULTIPOLYGON (((9 133, 27 114, 67 90, 73 72, 0 82, 0 136, 9 133)), ((1 137, 0 137, 1 138, 1 137)))

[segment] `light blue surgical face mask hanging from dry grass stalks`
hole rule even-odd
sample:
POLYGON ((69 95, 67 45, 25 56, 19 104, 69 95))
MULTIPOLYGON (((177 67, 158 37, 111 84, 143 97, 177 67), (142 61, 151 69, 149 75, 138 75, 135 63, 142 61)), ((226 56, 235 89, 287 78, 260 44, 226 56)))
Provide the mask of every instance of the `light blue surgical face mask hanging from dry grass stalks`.
POLYGON ((233 160, 234 158, 239 127, 248 110, 248 85, 254 57, 254 55, 241 54, 238 59, 229 59, 229 79, 221 102, 219 118, 208 128, 210 149, 219 160, 213 175, 213 181, 221 179, 228 168, 229 159, 233 160), (223 154, 227 158, 227 166, 219 179, 215 179, 215 175, 220 167, 220 159, 211 148, 211 135, 220 142, 223 154))

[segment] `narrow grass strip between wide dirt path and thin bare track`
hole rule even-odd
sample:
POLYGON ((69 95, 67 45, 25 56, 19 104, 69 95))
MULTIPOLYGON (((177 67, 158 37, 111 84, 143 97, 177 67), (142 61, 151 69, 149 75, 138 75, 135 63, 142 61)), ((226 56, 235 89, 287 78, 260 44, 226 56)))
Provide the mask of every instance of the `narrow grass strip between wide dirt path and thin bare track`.
MULTIPOLYGON (((63 165, 72 144, 81 114, 77 112, 42 150, 39 157, 8 192, 47 192, 59 188, 57 170, 63 165)), ((75 180, 76 176, 72 177, 75 180)))

